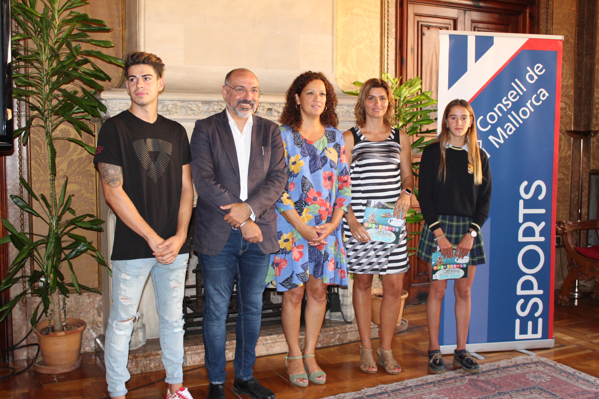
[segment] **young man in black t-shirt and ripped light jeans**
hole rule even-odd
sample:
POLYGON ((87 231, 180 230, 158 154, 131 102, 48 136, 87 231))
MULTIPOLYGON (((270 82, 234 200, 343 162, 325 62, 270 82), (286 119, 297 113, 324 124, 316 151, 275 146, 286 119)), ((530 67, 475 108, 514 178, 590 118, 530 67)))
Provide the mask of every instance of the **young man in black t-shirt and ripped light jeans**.
POLYGON ((156 292, 167 399, 192 399, 183 387, 183 293, 192 212, 187 133, 158 115, 164 63, 154 54, 125 59, 131 108, 105 121, 93 162, 108 205, 117 215, 111 260, 112 306, 106 329, 106 381, 124 399, 129 340, 149 273, 156 292))

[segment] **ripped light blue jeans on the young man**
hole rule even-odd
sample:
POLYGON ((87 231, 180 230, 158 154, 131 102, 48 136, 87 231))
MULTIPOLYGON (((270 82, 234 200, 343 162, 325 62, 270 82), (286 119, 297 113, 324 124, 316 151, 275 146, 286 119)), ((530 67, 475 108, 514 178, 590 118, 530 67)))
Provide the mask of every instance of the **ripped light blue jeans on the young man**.
POLYGON ((111 397, 127 393, 129 341, 149 273, 156 293, 162 364, 167 372, 165 382, 183 382, 183 294, 188 260, 189 254, 177 255, 171 264, 159 263, 156 258, 113 260, 112 306, 104 343, 106 382, 111 397))

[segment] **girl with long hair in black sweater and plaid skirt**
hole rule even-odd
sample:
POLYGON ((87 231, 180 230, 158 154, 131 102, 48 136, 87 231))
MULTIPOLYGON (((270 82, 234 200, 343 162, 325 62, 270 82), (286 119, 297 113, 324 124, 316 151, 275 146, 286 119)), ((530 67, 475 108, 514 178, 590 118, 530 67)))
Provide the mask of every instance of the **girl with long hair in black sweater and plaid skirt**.
POLYGON ((474 111, 466 100, 453 100, 443 113, 441 134, 426 147, 420 160, 419 203, 425 226, 420 234, 418 256, 428 263, 431 282, 428 319, 428 368, 444 373, 439 348, 441 303, 447 280, 432 280, 432 252, 438 245, 444 258, 469 256, 468 277, 455 280, 455 318, 458 345, 453 365, 476 373, 479 365, 466 351, 470 323, 470 288, 477 264, 485 263, 480 227, 489 215, 491 168, 477 143, 474 111), (453 246, 456 245, 455 254, 453 246))

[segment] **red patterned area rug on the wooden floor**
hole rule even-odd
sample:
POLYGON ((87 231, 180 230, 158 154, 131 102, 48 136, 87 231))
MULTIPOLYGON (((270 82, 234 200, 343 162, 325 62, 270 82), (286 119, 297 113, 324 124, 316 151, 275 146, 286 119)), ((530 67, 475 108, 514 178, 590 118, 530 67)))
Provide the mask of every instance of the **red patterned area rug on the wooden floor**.
POLYGON ((599 399, 599 379, 540 356, 482 364, 326 399, 599 399))

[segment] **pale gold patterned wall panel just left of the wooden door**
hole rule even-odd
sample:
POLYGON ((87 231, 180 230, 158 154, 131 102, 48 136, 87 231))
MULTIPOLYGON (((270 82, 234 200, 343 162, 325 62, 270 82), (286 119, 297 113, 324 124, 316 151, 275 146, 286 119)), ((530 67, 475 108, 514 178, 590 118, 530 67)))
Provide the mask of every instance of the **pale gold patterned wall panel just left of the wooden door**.
POLYGON ((335 74, 343 90, 380 77, 380 0, 335 1, 335 74))

